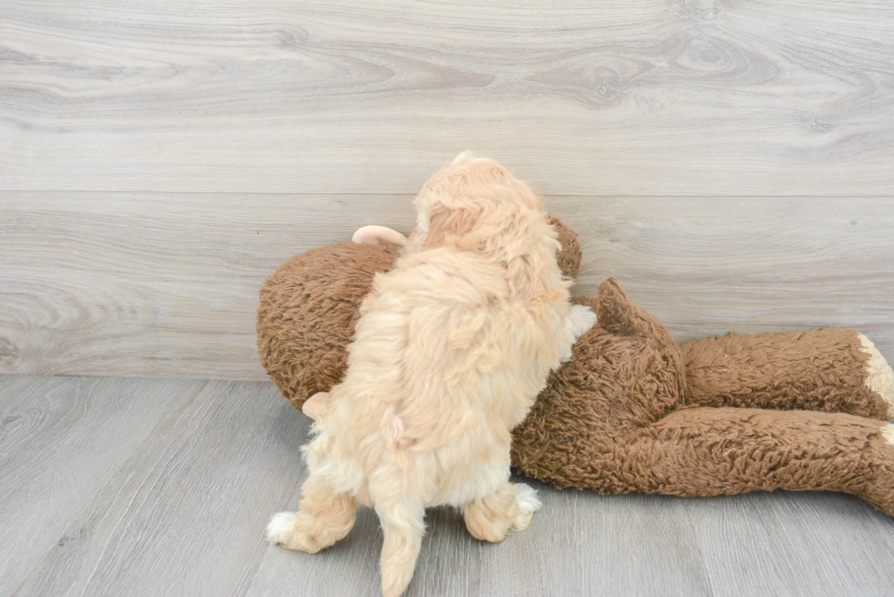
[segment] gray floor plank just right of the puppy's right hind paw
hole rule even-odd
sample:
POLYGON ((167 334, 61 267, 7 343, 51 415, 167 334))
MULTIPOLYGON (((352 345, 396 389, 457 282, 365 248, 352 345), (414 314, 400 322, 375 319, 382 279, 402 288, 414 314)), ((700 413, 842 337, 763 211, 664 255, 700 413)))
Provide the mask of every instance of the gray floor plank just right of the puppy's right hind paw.
POLYGON ((480 594, 713 594, 682 500, 600 496, 526 482, 540 492, 544 509, 530 532, 487 552, 480 594), (506 561, 513 561, 510 574, 506 561))

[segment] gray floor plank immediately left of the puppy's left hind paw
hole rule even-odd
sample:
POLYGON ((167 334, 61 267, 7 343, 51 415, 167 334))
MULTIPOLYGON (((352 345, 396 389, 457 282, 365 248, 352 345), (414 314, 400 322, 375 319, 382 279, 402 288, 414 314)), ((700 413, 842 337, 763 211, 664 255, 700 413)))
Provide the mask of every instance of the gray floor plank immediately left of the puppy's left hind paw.
POLYGON ((243 594, 303 470, 307 426, 276 396, 232 382, 184 394, 16 595, 243 594))

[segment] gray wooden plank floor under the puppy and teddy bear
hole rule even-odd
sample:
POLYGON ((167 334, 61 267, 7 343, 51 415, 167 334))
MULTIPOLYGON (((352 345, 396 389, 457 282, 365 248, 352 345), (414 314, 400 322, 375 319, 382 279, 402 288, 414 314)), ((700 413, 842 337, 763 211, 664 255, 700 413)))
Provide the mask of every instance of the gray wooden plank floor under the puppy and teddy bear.
MULTIPOLYGON (((0 376, 0 594, 377 595, 361 512, 317 555, 268 546, 307 419, 264 382, 0 376)), ((535 483, 498 545, 432 510, 408 595, 890 595, 894 520, 848 496, 599 496, 535 483)))

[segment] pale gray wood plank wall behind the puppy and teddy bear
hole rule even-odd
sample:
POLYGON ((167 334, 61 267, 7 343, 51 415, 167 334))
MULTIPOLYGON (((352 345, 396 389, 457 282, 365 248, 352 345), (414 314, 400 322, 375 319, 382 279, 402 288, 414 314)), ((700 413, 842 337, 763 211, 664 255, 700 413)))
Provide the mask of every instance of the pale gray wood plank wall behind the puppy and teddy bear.
POLYGON ((0 5, 0 372, 263 379, 295 252, 463 149, 680 340, 858 327, 894 360, 894 4, 0 5))

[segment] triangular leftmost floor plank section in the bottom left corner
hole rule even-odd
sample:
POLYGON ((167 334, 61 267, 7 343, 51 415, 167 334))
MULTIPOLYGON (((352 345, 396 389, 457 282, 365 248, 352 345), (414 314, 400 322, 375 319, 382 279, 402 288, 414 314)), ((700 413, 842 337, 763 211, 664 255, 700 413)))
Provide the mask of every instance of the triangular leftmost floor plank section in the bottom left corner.
POLYGON ((24 377, 0 386, 0 594, 8 595, 194 384, 24 377), (135 399, 134 396, 140 396, 135 399))

